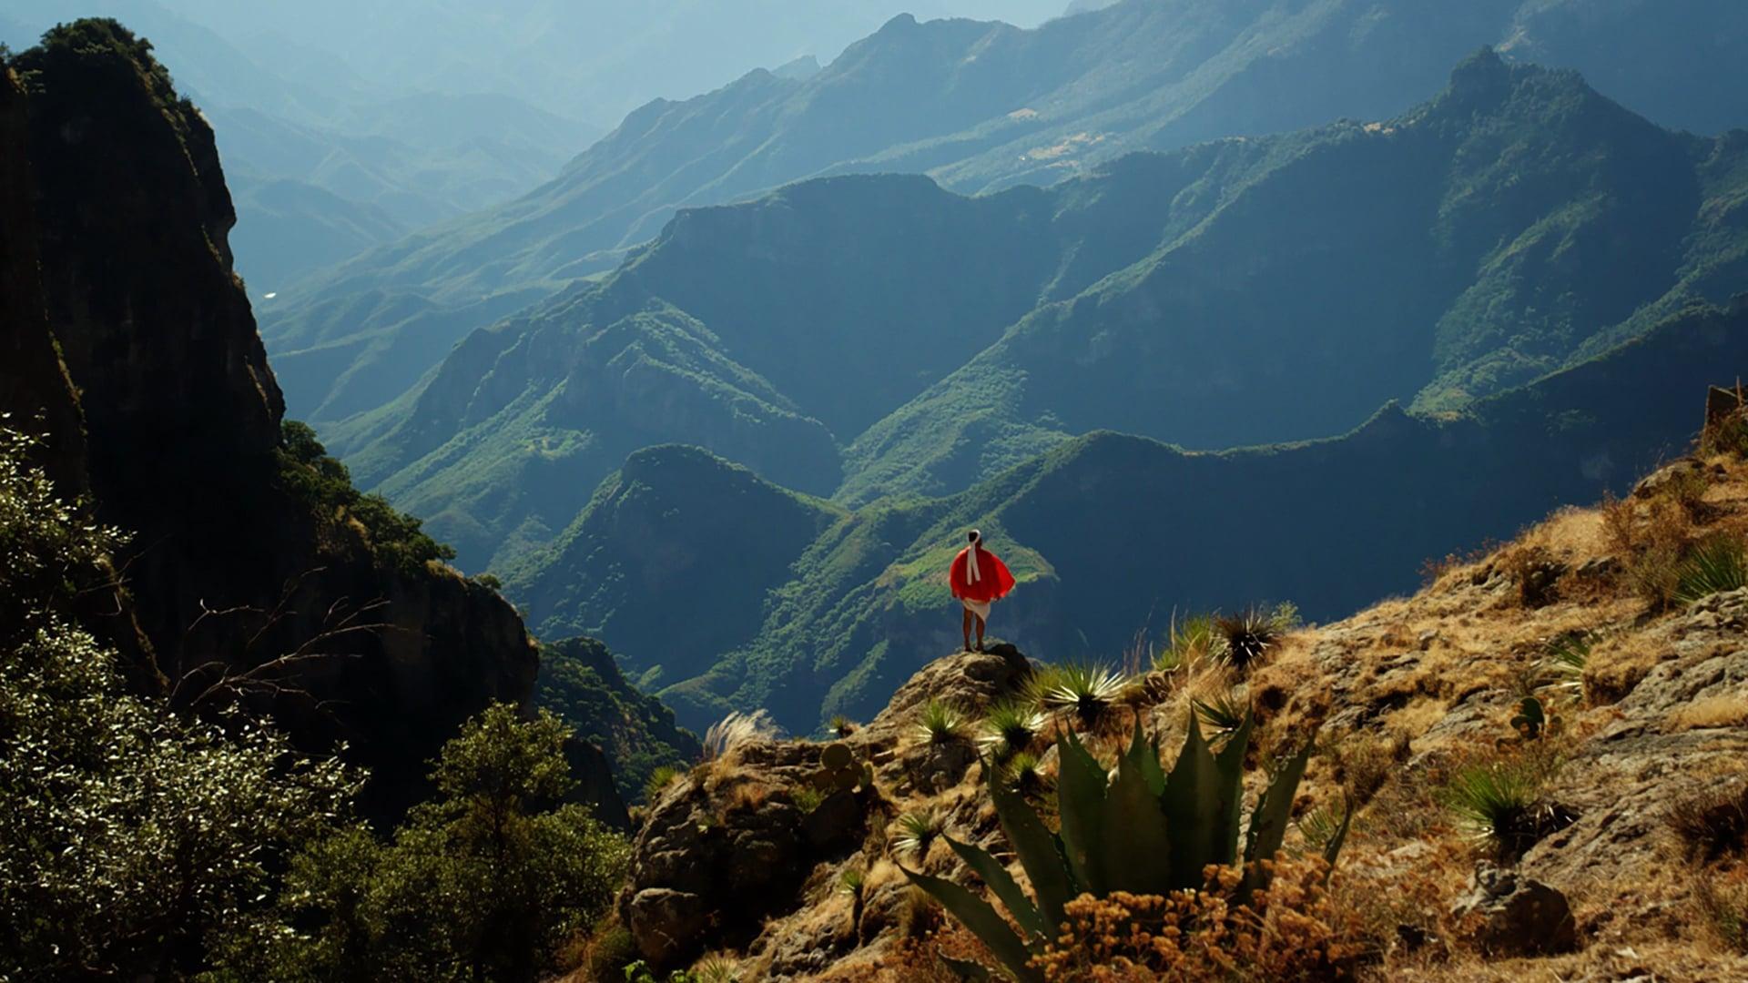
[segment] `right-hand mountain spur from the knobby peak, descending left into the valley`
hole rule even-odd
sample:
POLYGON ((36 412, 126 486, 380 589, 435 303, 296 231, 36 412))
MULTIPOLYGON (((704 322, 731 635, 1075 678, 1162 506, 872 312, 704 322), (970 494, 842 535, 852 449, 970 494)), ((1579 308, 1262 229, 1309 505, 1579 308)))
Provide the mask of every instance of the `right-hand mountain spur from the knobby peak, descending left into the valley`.
POLYGON ((1748 275, 1739 135, 1493 54, 1398 119, 1220 147, 1243 163, 1197 187, 1206 219, 860 436, 839 498, 953 492, 1092 429, 1220 448, 1454 409, 1748 275))

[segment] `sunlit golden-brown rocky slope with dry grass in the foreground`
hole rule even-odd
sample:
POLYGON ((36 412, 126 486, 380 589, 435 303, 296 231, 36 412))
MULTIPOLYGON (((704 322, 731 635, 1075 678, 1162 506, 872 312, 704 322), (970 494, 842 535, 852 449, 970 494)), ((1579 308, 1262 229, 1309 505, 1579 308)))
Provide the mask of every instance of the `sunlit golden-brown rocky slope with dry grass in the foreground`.
MULTIPOLYGON (((1748 953, 1731 952, 1718 934, 1731 922, 1704 897, 1748 896, 1732 873, 1745 827, 1692 815, 1748 798, 1748 588, 1666 607, 1645 582, 1661 549, 1748 547, 1745 450, 1738 436, 1734 451, 1676 462, 1626 500, 1557 511, 1453 561, 1412 596, 1290 631, 1248 675, 1187 661, 1120 701, 1166 747, 1190 698, 1220 693, 1262 721, 1257 761, 1316 733, 1288 848, 1355 803, 1332 890, 1363 980, 1743 978, 1748 953), (1575 638, 1584 654, 1554 672, 1575 638), (1531 693, 1563 726, 1526 742, 1510 719, 1531 693), (1447 805, 1467 768, 1530 775, 1528 815, 1547 819, 1510 850, 1479 840, 1447 805)), ((940 843, 905 854, 895 817, 933 813, 1010 855, 975 749, 926 740, 918 715, 939 698, 977 717, 1035 670, 1012 647, 928 663, 844 738, 874 768, 867 791, 809 796, 822 745, 757 736, 676 780, 638 833, 621 899, 636 952, 659 966, 725 953, 741 980, 947 980, 937 953, 975 945, 911 896, 898 864, 975 880, 940 843), (839 889, 844 871, 862 875, 858 892, 839 889)), ((1115 719, 1092 738, 1106 759, 1131 715, 1115 719)))

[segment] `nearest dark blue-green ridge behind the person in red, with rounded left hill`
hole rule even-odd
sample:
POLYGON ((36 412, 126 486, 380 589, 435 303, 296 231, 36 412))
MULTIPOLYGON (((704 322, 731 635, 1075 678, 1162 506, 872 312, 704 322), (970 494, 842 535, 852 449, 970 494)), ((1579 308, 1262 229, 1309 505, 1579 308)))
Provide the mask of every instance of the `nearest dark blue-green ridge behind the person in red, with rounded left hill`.
POLYGON ((652 448, 505 589, 538 631, 605 638, 687 726, 764 707, 809 733, 867 717, 918 654, 956 644, 940 579, 965 528, 1019 579, 991 630, 1051 661, 1110 658, 1190 610, 1334 617, 1624 492, 1697 430, 1692 394, 1745 360, 1748 299, 1696 306, 1458 415, 1391 404, 1342 437, 1234 451, 1094 432, 947 498, 857 511, 652 448))

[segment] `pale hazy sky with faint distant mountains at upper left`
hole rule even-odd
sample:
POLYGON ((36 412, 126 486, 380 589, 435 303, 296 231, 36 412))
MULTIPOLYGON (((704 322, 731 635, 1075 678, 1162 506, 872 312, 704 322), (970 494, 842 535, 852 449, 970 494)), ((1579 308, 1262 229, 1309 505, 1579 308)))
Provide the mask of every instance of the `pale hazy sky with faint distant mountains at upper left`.
MULTIPOLYGON (((898 9, 17 0, 0 40, 24 49, 54 23, 114 16, 154 42, 218 133, 239 203, 238 268, 259 301, 540 185, 652 96, 711 89, 752 65, 830 59, 898 9)), ((1059 9, 956 0, 919 12, 1037 23, 1059 9)))

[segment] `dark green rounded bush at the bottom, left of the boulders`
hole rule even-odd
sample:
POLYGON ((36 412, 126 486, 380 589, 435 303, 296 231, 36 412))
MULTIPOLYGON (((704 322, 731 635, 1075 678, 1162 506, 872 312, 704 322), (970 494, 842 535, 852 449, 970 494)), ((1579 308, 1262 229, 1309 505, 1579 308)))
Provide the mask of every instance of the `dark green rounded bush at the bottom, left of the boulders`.
POLYGON ((535 980, 612 904, 629 850, 573 787, 568 728, 498 703, 444 745, 437 799, 379 843, 304 850, 271 918, 225 939, 220 980, 535 980))

